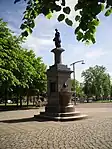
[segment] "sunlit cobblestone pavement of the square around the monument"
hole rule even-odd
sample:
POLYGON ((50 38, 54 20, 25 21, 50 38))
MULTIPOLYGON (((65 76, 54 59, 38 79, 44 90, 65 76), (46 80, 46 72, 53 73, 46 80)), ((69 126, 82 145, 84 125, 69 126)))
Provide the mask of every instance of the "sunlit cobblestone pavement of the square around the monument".
POLYGON ((80 104, 76 110, 88 119, 34 121, 39 110, 0 112, 0 149, 112 149, 112 104, 80 104))

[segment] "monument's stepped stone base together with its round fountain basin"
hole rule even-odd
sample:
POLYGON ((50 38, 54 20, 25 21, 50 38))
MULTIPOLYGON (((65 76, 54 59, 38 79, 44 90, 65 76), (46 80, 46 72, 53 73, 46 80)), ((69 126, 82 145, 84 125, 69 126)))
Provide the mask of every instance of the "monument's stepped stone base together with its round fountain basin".
POLYGON ((40 115, 34 115, 34 118, 50 119, 57 121, 78 120, 84 119, 87 115, 75 111, 75 106, 71 102, 72 92, 59 92, 59 104, 47 104, 45 112, 40 112, 40 115))

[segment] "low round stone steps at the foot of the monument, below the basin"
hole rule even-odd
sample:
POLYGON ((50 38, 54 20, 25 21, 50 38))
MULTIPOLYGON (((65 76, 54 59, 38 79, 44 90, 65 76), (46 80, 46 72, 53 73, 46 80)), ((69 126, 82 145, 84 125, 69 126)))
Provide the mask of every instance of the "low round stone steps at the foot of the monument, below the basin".
POLYGON ((35 119, 42 118, 48 120, 56 120, 56 121, 68 121, 68 120, 79 120, 87 118, 87 115, 81 114, 78 111, 75 111, 74 105, 70 105, 67 107, 50 107, 48 109, 57 109, 56 111, 45 111, 40 112, 39 115, 34 115, 35 119))

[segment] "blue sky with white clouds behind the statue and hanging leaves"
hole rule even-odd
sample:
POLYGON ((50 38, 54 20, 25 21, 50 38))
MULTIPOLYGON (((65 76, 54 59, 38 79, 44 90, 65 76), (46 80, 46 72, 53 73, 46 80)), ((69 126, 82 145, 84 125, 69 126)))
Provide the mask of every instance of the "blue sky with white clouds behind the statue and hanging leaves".
MULTIPOLYGON (((77 0, 67 0, 72 11, 69 18, 74 19, 78 13, 73 11, 73 4, 77 0)), ((21 0, 14 4, 14 0, 0 0, 0 18, 8 22, 9 28, 16 34, 21 33, 20 25, 22 23, 23 12, 25 11, 25 2, 21 0)), ((55 47, 53 38, 55 28, 61 34, 62 48, 65 52, 62 54, 62 62, 70 66, 71 63, 79 60, 84 60, 85 64, 76 64, 76 79, 80 82, 82 71, 93 67, 95 65, 103 65, 107 68, 107 72, 112 76, 112 16, 105 17, 104 13, 99 15, 101 20, 100 26, 97 28, 96 44, 85 45, 78 42, 74 34, 77 23, 74 21, 73 27, 67 26, 64 22, 57 21, 58 13, 55 13, 49 20, 42 14, 35 19, 36 27, 33 33, 27 37, 26 42, 23 44, 25 48, 33 49, 36 56, 40 56, 43 62, 49 67, 54 64, 54 55, 50 51, 55 47)))

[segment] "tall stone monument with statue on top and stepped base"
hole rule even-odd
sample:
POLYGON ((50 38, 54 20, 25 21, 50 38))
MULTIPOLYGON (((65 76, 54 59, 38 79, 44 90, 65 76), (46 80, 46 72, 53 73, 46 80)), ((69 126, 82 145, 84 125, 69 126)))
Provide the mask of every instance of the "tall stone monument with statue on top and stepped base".
MULTIPOLYGON (((65 50, 61 48, 60 33, 57 29, 55 31, 53 39, 55 48, 51 50, 54 53, 54 65, 47 70, 48 103, 45 112, 40 112, 38 116, 59 121, 85 118, 86 115, 75 111, 75 106, 71 101, 73 92, 71 92, 70 76, 73 71, 62 64, 61 54, 65 50)), ((36 118, 37 115, 34 117, 36 118)))

